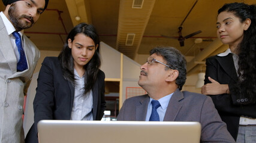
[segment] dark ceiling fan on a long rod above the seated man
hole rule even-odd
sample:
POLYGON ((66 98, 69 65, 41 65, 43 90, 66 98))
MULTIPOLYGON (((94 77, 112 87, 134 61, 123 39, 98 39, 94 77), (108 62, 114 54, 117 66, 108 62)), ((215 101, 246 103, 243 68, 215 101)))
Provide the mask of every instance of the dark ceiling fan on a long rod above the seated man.
MULTIPOLYGON (((197 0, 198 1, 198 0, 197 0)), ((186 15, 186 17, 188 17, 189 13, 191 13, 192 9, 195 7, 195 4, 197 4, 197 1, 195 1, 194 5, 192 6, 191 10, 189 10, 188 14, 186 15)), ((177 39, 180 43, 180 46, 184 46, 184 41, 185 39, 188 39, 188 38, 191 38, 192 36, 194 35, 197 35, 199 33, 201 33, 201 30, 198 30, 197 32, 194 32, 194 33, 191 33, 189 35, 186 35, 186 36, 182 36, 182 24, 184 23, 184 21, 186 20, 186 17, 184 18, 184 20, 182 21, 182 23, 180 24, 180 26, 178 27, 179 29, 179 37, 171 37, 171 36, 165 36, 165 35, 161 35, 162 37, 165 37, 165 38, 173 38, 173 39, 177 39)))

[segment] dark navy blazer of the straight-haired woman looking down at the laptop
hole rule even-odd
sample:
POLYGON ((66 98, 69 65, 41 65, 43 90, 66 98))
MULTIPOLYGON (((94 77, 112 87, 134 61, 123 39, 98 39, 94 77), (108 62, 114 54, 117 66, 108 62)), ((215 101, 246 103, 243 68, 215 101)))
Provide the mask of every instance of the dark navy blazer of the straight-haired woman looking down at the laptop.
MULTIPOLYGON (((98 72, 92 89, 93 119, 101 120, 106 108, 105 74, 98 72)), ((64 79, 57 57, 46 57, 37 79, 37 94, 34 99, 34 125, 26 136, 26 142, 37 141, 37 123, 40 120, 70 120, 74 101, 74 86, 64 79)))

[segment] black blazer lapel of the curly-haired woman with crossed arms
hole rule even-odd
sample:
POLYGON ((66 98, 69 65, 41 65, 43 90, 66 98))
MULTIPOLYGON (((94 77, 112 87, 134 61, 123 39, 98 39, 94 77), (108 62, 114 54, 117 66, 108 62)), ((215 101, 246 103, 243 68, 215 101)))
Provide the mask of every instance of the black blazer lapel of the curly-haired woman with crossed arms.
POLYGON ((236 81, 237 74, 236 74, 236 68, 234 67, 232 54, 228 54, 225 57, 216 56, 216 60, 218 61, 222 69, 224 69, 225 73, 227 73, 228 76, 230 76, 232 79, 236 81))

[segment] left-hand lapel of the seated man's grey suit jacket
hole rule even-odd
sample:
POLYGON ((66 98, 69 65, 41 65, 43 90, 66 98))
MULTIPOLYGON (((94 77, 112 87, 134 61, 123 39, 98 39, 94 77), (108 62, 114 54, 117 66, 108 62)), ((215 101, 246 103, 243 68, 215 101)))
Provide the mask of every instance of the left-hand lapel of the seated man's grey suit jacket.
POLYGON ((144 96, 143 100, 139 102, 136 106, 136 120, 137 121, 144 121, 146 120, 147 114, 147 106, 149 104, 149 96, 144 96))

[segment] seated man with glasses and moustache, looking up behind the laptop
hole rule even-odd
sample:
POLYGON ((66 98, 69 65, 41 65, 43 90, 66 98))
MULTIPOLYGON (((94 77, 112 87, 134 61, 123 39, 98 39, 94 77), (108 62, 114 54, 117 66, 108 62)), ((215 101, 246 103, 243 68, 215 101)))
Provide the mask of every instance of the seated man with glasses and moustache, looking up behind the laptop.
POLYGON ((118 120, 201 123, 201 142, 235 142, 210 97, 181 91, 185 57, 175 48, 156 47, 140 67, 138 85, 147 94, 125 100, 118 120))

